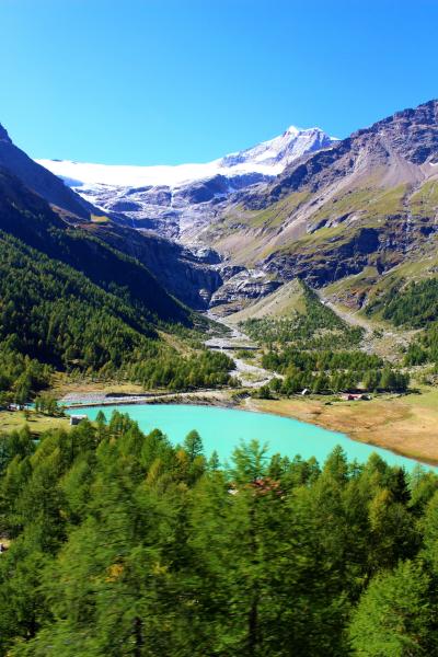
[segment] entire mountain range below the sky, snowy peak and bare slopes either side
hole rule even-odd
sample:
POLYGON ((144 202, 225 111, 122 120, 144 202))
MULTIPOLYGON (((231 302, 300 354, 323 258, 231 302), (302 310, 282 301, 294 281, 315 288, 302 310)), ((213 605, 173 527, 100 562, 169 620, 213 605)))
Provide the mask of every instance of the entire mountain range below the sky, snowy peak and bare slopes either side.
POLYGON ((0 165, 197 310, 229 312, 296 277, 361 307, 385 277, 438 266, 437 101, 346 139, 289 128, 177 166, 33 162, 2 128, 0 165))

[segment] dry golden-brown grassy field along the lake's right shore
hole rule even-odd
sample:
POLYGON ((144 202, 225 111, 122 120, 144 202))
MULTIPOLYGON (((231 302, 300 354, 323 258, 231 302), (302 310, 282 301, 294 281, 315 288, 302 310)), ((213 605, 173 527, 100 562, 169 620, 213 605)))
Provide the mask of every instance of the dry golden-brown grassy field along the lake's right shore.
POLYGON ((369 402, 320 399, 250 400, 246 407, 295 417, 400 454, 438 464, 438 389, 369 402))

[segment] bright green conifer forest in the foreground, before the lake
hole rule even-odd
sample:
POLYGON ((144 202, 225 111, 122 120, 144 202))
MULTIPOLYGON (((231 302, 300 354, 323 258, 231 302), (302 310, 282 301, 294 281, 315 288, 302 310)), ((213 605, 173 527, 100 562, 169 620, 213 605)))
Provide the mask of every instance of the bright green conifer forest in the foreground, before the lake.
POLYGON ((206 459, 127 416, 0 443, 0 654, 438 654, 438 477, 206 459))

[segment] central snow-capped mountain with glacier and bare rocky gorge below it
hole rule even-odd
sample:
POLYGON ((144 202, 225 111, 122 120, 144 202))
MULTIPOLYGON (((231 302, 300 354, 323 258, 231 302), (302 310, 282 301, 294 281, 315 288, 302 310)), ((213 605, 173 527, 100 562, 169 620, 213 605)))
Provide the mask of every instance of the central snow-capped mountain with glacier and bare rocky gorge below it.
POLYGON ((272 181, 297 158, 335 141, 319 128, 290 127, 279 137, 207 164, 39 163, 113 219, 89 230, 139 258, 171 293, 197 310, 239 308, 279 283, 260 268, 230 266, 208 242, 197 240, 198 232, 215 223, 217 206, 237 191, 272 181))

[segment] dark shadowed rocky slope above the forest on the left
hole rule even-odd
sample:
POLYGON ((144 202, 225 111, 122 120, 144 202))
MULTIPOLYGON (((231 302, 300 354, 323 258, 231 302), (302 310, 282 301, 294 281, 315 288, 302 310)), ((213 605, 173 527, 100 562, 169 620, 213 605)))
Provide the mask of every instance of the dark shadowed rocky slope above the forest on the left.
MULTIPOLYGON (((76 194, 58 176, 28 158, 12 142, 2 126, 0 126, 0 172, 3 180, 0 188, 2 211, 0 230, 8 228, 25 241, 31 239, 30 243, 37 249, 47 250, 51 244, 50 257, 62 260, 62 253, 61 251, 58 253, 59 245, 54 246, 53 240, 48 239, 47 226, 45 232, 38 233, 39 215, 49 218, 51 228, 56 226, 65 231, 68 229, 71 233, 80 230, 82 238, 88 234, 90 239, 96 238, 102 244, 110 244, 120 254, 135 257, 155 277, 152 287, 161 284, 171 295, 196 310, 206 309, 211 296, 223 280, 233 275, 229 268, 220 267, 220 257, 211 250, 193 251, 151 232, 132 230, 128 227, 128 218, 122 214, 103 215, 102 210, 76 194), (9 185, 5 185, 5 180, 10 181, 9 185), (19 181, 22 183, 21 188, 19 181), (36 196, 31 196, 30 192, 34 192, 36 196), (23 207, 24 196, 27 200, 32 198, 31 205, 35 211, 23 207), (38 198, 41 207, 37 208, 38 198), (23 223, 21 220, 12 223, 4 206, 8 199, 19 208, 23 207, 23 214, 30 214, 32 220, 28 223, 23 223), (45 201, 50 205, 51 211, 45 201)), ((95 240, 93 243, 95 244, 95 240)), ((99 257, 94 254, 89 263, 84 260, 81 266, 87 263, 90 267, 93 260, 99 263, 99 257)), ((114 276, 117 278, 117 272, 114 276)), ((160 289, 165 298, 164 290, 160 289)))

